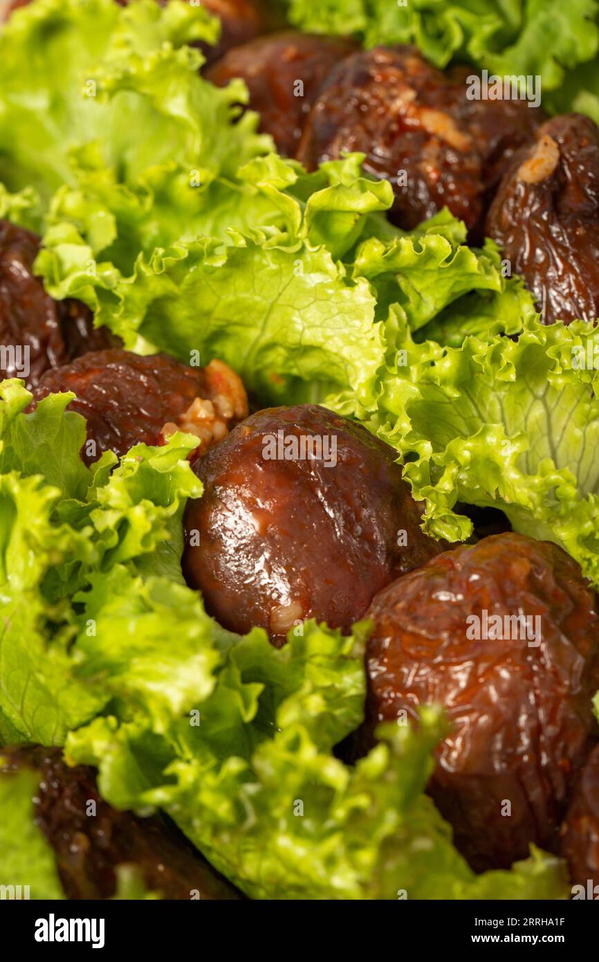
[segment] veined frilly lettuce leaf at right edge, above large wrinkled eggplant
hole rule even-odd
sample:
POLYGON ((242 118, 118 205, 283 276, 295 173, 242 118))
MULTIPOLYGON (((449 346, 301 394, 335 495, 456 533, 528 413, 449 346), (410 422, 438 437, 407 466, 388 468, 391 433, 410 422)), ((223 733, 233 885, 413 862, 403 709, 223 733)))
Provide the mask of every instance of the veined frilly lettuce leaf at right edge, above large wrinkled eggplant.
POLYGON ((458 501, 501 508, 514 530, 561 544, 599 584, 597 330, 530 317, 517 341, 416 345, 405 325, 403 337, 375 412, 347 397, 332 404, 396 447, 426 501, 425 529, 459 541, 472 525, 458 501))

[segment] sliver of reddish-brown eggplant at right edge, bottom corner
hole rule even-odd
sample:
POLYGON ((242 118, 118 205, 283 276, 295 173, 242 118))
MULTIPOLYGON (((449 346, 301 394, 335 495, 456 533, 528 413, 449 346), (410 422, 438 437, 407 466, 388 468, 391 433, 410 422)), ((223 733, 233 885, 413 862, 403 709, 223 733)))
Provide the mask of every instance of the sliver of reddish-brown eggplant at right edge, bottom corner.
POLYGON ((583 769, 562 824, 562 855, 574 885, 599 899, 599 747, 583 769))

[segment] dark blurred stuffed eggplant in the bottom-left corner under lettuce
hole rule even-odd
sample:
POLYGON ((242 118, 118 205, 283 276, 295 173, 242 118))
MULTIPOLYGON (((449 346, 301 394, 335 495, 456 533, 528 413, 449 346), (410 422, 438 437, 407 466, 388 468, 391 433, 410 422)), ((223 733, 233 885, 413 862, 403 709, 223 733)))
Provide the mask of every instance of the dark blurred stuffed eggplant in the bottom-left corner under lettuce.
POLYGON ((175 826, 160 816, 118 812, 98 794, 95 773, 69 767, 60 748, 23 745, 0 749, 0 777, 39 773, 35 819, 54 850, 67 899, 111 899, 116 868, 137 866, 146 888, 163 899, 241 899, 175 826), (88 815, 89 802, 95 814, 88 815))

